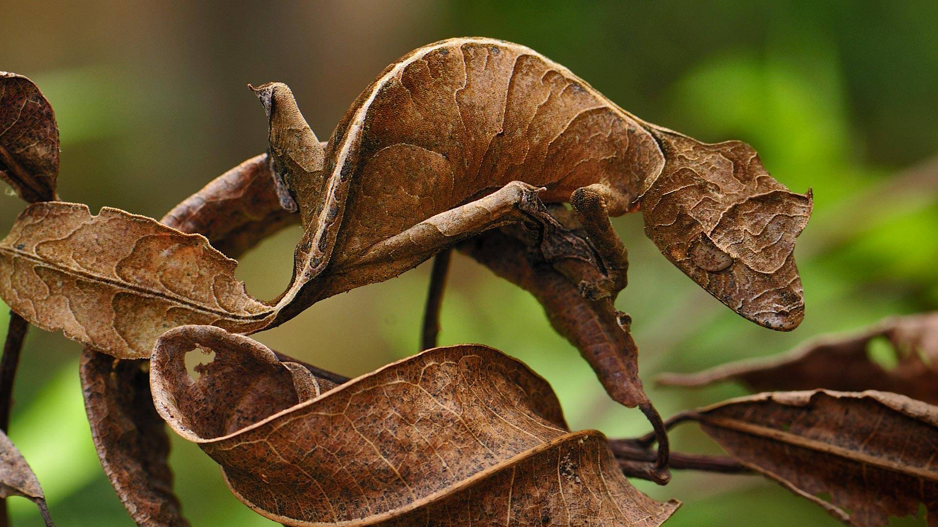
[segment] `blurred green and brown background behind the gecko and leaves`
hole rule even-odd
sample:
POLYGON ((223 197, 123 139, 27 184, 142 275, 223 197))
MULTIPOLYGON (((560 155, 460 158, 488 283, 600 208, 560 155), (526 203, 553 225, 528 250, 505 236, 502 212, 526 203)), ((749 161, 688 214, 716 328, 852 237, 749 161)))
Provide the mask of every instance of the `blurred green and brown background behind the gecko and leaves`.
MULTIPOLYGON (((938 3, 928 1, 0 3, 0 69, 31 77, 62 134, 63 199, 159 218, 244 158, 265 150, 264 113, 247 83, 289 83, 327 137, 388 63, 453 36, 505 38, 566 65, 622 107, 703 141, 742 139, 796 191, 814 189, 799 239, 807 317, 791 334, 749 324, 662 258, 639 217, 618 218, 642 373, 661 414, 745 393, 734 385, 658 389, 691 371, 776 354, 817 334, 938 307, 938 3)), ((0 232, 23 208, 0 196, 0 232)), ((279 294, 298 228, 247 255, 251 294, 279 294)), ((428 265, 322 302, 258 336, 345 375, 416 352, 428 265)), ((0 324, 6 327, 7 309, 0 324)), ((481 342, 552 382, 573 429, 643 433, 637 411, 607 399, 537 303, 456 256, 443 343, 481 342)), ((0 329, 3 333, 5 329, 0 329)), ((62 525, 129 525, 98 465, 83 412, 78 344, 32 330, 10 437, 38 474, 62 525)), ((685 451, 715 446, 692 429, 685 451)), ((174 436, 172 462, 195 525, 268 525, 237 502, 218 468, 174 436)), ((658 498, 684 501, 668 525, 836 524, 755 476, 674 474, 658 498)), ((40 525, 10 500, 18 525, 40 525)), ((900 523, 900 522, 897 522, 900 523)))

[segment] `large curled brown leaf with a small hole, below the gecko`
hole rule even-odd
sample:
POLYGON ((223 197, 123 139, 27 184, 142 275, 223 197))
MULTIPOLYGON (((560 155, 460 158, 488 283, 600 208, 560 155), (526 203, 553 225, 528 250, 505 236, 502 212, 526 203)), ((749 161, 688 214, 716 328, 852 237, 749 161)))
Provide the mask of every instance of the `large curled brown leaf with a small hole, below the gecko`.
POLYGON ((599 432, 567 431, 551 387, 491 348, 434 348, 336 387, 284 364, 213 326, 167 332, 151 361, 159 414, 266 518, 659 525, 677 507, 632 488, 599 432), (196 381, 194 347, 215 352, 196 381))

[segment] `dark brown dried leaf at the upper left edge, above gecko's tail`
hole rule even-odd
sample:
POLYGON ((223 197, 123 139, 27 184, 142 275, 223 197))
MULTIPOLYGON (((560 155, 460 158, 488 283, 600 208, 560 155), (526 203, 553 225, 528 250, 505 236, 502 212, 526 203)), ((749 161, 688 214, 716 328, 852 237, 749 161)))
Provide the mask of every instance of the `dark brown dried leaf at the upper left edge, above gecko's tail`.
POLYGON ((0 178, 29 203, 52 201, 58 165, 52 105, 29 79, 0 71, 0 178))

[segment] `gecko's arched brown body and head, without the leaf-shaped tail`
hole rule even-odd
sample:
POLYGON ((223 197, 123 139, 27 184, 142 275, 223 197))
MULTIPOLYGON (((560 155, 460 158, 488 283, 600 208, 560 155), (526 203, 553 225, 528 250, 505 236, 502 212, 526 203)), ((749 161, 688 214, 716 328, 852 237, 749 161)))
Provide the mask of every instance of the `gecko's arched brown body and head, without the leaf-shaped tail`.
POLYGON ((773 179, 749 145, 644 122, 533 50, 453 38, 409 53, 356 99, 325 152, 297 139, 309 128, 285 85, 255 91, 284 130, 271 151, 306 230, 274 324, 491 228, 496 218, 432 217, 460 205, 471 215, 512 181, 544 188, 545 203, 598 184, 610 215, 641 208, 662 253, 731 309, 779 330, 803 317, 793 250, 809 194, 773 179))

